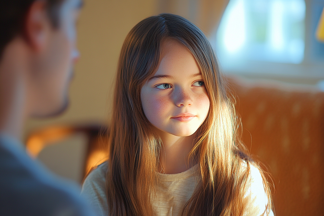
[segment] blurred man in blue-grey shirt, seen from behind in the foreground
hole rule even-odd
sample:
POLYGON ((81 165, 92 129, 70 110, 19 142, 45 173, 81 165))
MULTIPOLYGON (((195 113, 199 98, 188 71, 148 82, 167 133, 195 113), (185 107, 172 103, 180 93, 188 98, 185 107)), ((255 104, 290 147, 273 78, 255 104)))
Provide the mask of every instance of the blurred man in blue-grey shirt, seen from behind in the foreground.
MULTIPOLYGON (((93 215, 19 142, 29 117, 67 106, 80 0, 0 1, 0 215, 93 215)), ((74 188, 75 187, 75 188, 74 188)))

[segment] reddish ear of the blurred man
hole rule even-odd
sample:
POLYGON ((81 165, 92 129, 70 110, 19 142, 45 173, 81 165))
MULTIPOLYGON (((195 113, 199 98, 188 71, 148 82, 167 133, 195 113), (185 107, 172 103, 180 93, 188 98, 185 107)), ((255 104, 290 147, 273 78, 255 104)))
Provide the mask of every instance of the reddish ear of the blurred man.
POLYGON ((25 20, 25 37, 33 51, 42 52, 48 43, 52 28, 46 12, 46 2, 34 1, 25 20))

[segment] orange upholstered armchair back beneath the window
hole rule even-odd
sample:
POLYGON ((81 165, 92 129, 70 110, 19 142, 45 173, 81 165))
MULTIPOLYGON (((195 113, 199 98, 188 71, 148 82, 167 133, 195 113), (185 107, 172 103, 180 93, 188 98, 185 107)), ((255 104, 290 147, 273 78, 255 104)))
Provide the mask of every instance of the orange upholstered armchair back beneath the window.
POLYGON ((272 173, 276 215, 324 215, 324 93, 228 79, 243 142, 272 173))

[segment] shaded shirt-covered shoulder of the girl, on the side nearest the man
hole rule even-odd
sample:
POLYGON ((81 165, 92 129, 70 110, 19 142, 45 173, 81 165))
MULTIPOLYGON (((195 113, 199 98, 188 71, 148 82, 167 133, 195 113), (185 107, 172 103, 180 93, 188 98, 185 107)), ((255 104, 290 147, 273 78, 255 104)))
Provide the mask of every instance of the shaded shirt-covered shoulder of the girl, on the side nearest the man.
POLYGON ((106 189, 108 162, 104 162, 90 172, 82 184, 81 195, 84 196, 98 215, 109 215, 106 189))

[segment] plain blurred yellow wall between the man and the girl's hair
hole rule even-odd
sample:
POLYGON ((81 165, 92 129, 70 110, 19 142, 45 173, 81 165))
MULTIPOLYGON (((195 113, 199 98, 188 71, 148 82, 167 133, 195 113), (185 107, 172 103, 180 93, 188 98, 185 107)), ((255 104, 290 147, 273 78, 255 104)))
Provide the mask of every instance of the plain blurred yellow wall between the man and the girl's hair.
POLYGON ((51 124, 107 122, 123 40, 136 23, 157 13, 156 4, 156 0, 85 0, 77 27, 81 57, 71 83, 70 106, 56 118, 30 119, 25 135, 51 124))

